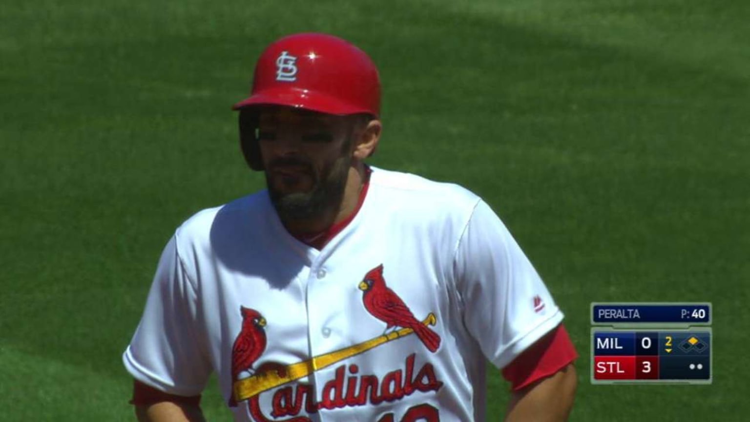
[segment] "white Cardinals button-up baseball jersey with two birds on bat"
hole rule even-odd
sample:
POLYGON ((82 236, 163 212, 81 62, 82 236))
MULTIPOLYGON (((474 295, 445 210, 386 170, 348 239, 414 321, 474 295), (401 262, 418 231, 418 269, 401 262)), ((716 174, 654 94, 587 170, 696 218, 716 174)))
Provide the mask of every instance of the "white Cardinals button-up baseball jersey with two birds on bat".
POLYGON ((372 170, 320 251, 285 230, 267 191, 184 222, 127 370, 184 396, 217 372, 236 420, 484 420, 485 361, 507 365, 562 312, 475 194, 372 170))

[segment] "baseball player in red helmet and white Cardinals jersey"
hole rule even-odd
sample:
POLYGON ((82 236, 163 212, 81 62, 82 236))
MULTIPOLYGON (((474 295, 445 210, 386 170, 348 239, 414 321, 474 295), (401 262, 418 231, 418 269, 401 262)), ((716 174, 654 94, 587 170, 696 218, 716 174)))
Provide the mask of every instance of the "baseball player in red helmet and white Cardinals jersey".
POLYGON ((202 420, 212 372, 235 420, 487 420, 487 361, 511 383, 506 420, 567 418, 562 312, 490 206, 365 164, 383 124, 362 50, 281 38, 234 109, 267 189, 163 250, 123 355, 140 420, 202 420))

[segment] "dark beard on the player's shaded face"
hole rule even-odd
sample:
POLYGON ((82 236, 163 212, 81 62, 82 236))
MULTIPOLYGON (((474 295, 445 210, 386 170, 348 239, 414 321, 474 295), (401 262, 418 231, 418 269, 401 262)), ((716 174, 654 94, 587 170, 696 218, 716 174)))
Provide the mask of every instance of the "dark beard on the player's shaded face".
POLYGON ((323 173, 323 179, 317 179, 317 175, 311 172, 310 175, 316 177, 314 188, 309 192, 292 194, 282 194, 275 190, 269 180, 269 173, 266 172, 269 196, 281 221, 317 219, 339 206, 344 198, 351 163, 352 158, 349 156, 338 158, 329 170, 323 173))

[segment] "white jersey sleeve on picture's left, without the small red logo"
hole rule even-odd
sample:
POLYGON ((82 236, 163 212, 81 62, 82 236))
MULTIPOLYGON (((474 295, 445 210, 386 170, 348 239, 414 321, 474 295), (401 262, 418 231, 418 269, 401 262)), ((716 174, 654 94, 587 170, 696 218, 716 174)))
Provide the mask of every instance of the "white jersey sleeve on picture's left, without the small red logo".
POLYGON ((122 357, 137 381, 180 396, 202 392, 211 363, 200 335, 196 298, 175 235, 164 248, 140 324, 122 357))

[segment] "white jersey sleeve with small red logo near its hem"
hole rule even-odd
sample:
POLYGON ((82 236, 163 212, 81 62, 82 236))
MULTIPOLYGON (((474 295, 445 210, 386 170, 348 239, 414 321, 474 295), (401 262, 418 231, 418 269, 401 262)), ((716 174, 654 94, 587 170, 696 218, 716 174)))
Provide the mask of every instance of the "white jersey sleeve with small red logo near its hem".
POLYGON ((453 264, 463 324, 498 368, 562 321, 531 262, 483 200, 460 237, 453 264))

